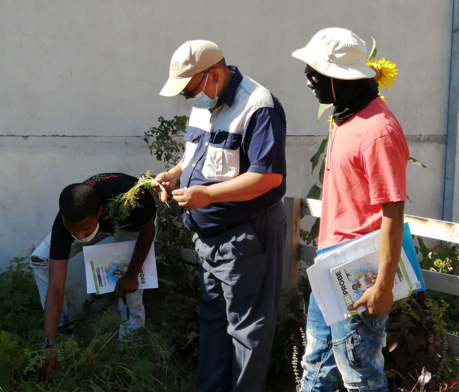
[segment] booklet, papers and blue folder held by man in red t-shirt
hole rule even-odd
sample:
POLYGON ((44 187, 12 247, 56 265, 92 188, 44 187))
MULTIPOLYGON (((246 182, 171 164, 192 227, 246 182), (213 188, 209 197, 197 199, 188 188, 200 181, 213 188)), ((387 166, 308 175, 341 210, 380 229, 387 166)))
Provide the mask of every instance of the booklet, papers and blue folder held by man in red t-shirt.
MULTIPOLYGON (((376 230, 317 252, 315 263, 308 268, 307 272, 314 296, 327 325, 330 326, 366 310, 365 307, 359 307, 357 312, 351 313, 347 310, 346 304, 355 302, 364 290, 374 284, 379 265, 379 239, 380 230, 376 230), (343 266, 347 263, 350 264, 344 272, 343 266), (339 280, 339 275, 336 275, 340 267, 342 280, 339 280), (335 276, 332 275, 333 273, 335 276), (336 285, 339 285, 339 291, 335 289, 336 285), (343 285, 346 289, 343 289, 343 285)), ((404 224, 403 227, 400 260, 392 291, 394 301, 425 290, 408 224, 404 224)))

